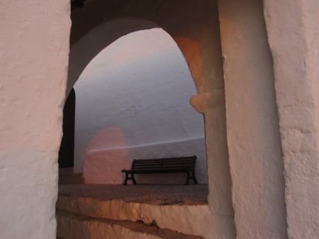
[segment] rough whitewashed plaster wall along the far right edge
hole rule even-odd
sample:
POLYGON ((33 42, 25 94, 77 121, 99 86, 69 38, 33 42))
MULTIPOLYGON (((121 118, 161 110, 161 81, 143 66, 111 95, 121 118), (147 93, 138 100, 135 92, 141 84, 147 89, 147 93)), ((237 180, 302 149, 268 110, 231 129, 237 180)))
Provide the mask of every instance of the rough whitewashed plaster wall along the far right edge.
POLYGON ((274 58, 288 235, 318 238, 319 3, 267 0, 264 16, 274 58))

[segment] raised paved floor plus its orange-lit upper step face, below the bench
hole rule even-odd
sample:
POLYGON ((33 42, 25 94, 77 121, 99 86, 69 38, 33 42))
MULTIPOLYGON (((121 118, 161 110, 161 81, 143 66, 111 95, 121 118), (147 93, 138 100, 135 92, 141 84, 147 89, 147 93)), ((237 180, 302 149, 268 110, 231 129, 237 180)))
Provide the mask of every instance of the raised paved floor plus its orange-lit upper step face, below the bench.
POLYGON ((216 222, 206 195, 205 184, 69 184, 59 186, 56 208, 90 218, 155 223, 159 228, 211 238, 216 222))

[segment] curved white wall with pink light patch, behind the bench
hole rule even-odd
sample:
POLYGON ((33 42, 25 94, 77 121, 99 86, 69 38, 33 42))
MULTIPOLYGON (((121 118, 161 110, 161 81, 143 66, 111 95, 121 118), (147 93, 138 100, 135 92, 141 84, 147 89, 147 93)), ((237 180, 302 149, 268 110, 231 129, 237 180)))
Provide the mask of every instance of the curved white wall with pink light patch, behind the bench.
MULTIPOLYGON (((207 182, 203 116, 189 104, 196 89, 184 57, 164 30, 116 40, 90 62, 74 89, 74 167, 84 167, 86 183, 122 183, 121 169, 128 169, 133 158, 182 155, 197 155, 198 182, 207 182)), ((170 176, 138 177, 138 182, 185 180, 185 175, 170 176)))

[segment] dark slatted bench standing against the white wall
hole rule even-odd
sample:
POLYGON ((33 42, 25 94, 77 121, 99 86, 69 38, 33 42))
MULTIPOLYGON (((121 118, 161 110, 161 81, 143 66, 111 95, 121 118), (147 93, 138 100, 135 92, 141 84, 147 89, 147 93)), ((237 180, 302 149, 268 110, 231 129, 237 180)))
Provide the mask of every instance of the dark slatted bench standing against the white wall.
POLYGON ((131 169, 123 169, 125 172, 125 180, 123 185, 126 185, 128 180, 132 180, 136 184, 134 174, 159 174, 159 173, 175 173, 185 172, 187 174, 186 183, 192 179, 194 184, 197 184, 195 177, 195 162, 196 156, 191 157, 166 157, 159 159, 133 160, 131 169))

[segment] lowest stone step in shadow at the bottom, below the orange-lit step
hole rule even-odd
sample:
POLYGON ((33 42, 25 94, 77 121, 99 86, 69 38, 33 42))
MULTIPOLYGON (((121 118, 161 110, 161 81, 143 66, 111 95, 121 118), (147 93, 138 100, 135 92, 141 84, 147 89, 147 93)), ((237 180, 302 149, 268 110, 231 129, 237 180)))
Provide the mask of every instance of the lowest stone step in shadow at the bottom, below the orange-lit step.
POLYGON ((92 218, 63 210, 57 210, 56 217, 57 238, 62 239, 204 239, 142 221, 92 218))

